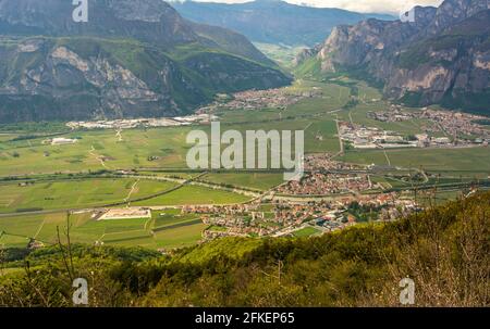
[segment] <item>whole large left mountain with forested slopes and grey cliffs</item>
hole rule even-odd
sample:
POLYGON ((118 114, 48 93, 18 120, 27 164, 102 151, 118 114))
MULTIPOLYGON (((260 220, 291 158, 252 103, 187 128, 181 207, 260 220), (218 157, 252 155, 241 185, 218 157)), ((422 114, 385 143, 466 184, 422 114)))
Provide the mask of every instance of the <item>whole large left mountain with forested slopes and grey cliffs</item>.
POLYGON ((0 122, 191 113, 218 92, 290 83, 244 36, 161 0, 0 0, 0 122))

